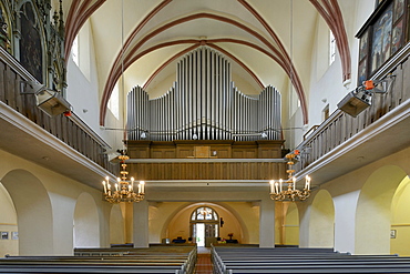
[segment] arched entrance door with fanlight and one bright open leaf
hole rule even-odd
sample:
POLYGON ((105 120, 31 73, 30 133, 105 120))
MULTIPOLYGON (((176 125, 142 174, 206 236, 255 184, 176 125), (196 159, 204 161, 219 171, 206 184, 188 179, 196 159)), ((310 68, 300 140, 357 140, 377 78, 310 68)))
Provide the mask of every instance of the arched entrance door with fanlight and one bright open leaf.
POLYGON ((211 246, 219 235, 219 215, 208 206, 197 207, 191 214, 189 229, 197 246, 211 246))

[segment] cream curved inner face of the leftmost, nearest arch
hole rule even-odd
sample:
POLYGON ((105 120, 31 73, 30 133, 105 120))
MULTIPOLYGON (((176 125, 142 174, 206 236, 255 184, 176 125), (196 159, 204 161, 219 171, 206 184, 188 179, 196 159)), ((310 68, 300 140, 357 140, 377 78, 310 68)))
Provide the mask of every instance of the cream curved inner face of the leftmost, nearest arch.
POLYGON ((1 182, 16 206, 20 255, 52 255, 53 217, 44 185, 25 170, 10 171, 1 182))

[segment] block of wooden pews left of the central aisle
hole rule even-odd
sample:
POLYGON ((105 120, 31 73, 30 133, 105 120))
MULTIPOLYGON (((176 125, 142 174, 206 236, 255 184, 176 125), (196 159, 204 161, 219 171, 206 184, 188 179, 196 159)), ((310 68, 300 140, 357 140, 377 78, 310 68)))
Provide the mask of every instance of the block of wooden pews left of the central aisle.
POLYGON ((105 248, 88 256, 7 256, 0 273, 176 273, 192 274, 196 246, 189 248, 129 248, 109 255, 105 248), (100 255, 96 255, 100 254, 100 255), (101 255, 103 254, 103 255, 101 255))

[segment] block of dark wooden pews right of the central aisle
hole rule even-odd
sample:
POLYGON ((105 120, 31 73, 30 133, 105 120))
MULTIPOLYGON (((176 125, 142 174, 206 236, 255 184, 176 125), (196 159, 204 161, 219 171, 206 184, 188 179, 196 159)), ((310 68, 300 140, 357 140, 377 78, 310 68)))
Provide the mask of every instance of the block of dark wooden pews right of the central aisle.
POLYGON ((214 273, 410 273, 410 257, 309 248, 213 247, 214 273))

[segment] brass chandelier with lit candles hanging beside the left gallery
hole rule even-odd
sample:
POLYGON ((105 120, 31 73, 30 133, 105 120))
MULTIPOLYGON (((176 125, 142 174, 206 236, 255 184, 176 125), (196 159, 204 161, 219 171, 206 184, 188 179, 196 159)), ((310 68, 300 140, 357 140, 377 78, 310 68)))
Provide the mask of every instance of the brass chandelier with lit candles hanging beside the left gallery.
POLYGON ((119 159, 121 160, 120 164, 122 168, 120 171, 121 177, 116 179, 114 189, 111 187, 109 176, 105 177, 105 181, 102 182, 104 185, 104 199, 112 204, 120 202, 133 203, 144 200, 145 182, 140 181, 137 185, 139 191, 134 192, 134 177, 131 177, 131 182, 126 180, 129 172, 126 171, 125 161, 130 158, 127 155, 120 155, 119 159))

